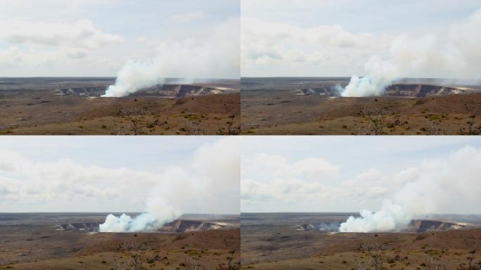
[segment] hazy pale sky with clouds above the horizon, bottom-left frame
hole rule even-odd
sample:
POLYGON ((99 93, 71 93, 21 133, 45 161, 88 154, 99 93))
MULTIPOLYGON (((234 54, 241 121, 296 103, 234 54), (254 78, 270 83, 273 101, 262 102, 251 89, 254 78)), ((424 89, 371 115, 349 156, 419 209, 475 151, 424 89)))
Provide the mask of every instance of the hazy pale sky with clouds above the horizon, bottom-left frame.
POLYGON ((0 212, 238 214, 240 147, 216 136, 0 138, 0 212))

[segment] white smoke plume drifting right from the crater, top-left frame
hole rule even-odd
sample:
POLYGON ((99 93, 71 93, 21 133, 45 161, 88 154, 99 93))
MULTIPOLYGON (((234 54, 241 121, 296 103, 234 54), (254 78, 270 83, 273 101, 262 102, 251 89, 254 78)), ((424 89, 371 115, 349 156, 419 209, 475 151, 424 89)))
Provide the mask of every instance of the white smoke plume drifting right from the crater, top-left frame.
POLYGON ((115 84, 109 86, 103 96, 128 96, 162 84, 167 77, 238 78, 239 29, 239 19, 229 18, 205 39, 150 41, 156 44, 152 55, 147 60, 127 62, 118 72, 115 84))

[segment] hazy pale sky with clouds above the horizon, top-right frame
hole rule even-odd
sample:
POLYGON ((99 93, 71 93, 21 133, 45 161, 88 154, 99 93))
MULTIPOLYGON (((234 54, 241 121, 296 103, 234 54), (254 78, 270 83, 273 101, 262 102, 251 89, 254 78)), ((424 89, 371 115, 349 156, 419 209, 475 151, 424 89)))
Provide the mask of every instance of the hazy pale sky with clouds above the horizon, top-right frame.
POLYGON ((363 76, 376 56, 405 76, 481 79, 480 8, 477 0, 242 0, 241 75, 363 76))

